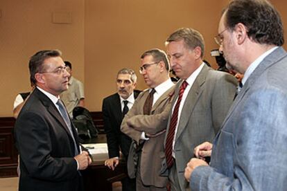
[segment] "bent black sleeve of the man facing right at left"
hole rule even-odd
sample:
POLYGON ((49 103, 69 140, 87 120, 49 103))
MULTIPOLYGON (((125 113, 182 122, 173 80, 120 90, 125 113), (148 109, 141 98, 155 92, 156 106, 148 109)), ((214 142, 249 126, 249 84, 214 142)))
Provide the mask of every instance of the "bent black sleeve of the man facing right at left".
MULTIPOLYGON (((46 118, 36 111, 26 111, 18 118, 15 136, 21 158, 20 167, 24 165, 21 169, 25 168, 29 176, 37 179, 71 180, 78 174, 76 160, 73 157, 63 158, 59 152, 52 151, 51 128, 54 128, 52 131, 57 131, 57 128, 62 127, 51 127, 46 118)), ((60 138, 63 143, 59 144, 66 144, 64 138, 67 136, 60 138)))

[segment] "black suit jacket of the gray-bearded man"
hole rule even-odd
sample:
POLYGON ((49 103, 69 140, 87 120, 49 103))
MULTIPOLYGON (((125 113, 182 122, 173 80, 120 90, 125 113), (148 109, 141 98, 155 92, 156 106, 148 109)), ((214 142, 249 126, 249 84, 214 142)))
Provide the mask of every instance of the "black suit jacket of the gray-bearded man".
MULTIPOLYGON (((140 91, 134 91, 134 99, 139 96, 139 93, 140 91)), ((123 118, 121 99, 118 93, 114 93, 112 96, 108 96, 103 100, 102 111, 109 157, 120 156, 120 148, 123 155, 127 157, 132 140, 121 132, 121 122, 123 118)))

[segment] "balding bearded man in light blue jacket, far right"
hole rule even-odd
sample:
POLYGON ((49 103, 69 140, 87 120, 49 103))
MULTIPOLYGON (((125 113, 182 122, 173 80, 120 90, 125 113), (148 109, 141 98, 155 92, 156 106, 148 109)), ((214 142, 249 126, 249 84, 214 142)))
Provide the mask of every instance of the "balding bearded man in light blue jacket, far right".
POLYGON ((229 68, 244 73, 243 87, 214 140, 210 166, 192 158, 185 177, 191 190, 286 190, 287 54, 279 13, 265 0, 235 0, 218 32, 229 68))

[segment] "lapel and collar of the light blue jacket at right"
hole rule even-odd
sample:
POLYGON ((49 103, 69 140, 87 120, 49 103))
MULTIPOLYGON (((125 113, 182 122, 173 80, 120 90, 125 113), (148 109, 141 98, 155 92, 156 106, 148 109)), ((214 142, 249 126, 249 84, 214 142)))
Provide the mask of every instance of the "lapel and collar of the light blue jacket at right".
POLYGON ((227 122, 229 117, 232 115, 233 111, 236 110, 235 108, 238 105, 238 103, 241 102, 241 100, 243 100, 243 97, 245 96, 247 91, 250 89, 250 87, 252 87, 252 84, 254 84, 254 82, 256 82, 256 80, 260 77, 260 75, 262 75, 262 73, 264 71, 266 71, 266 69, 268 69, 270 66, 279 62, 279 60, 282 60, 286 56, 287 56, 286 51, 284 51, 284 49, 282 47, 279 47, 275 51, 270 53, 270 55, 268 55, 267 57, 265 57, 263 59, 261 64, 259 64, 259 66, 257 66, 257 68, 252 72, 250 77, 247 79, 247 81, 245 82, 244 86, 242 87, 240 93, 238 93, 238 96, 234 100, 232 106, 230 107, 230 109, 227 113, 227 116, 223 122, 222 127, 225 125, 225 122, 227 122))

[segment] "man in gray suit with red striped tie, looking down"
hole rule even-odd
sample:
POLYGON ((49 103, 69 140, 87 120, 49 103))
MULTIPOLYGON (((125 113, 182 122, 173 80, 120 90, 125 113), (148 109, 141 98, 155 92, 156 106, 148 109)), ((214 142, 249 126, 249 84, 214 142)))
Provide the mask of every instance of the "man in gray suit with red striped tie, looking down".
POLYGON ((166 40, 171 67, 181 80, 175 86, 175 99, 165 138, 166 160, 162 175, 171 181, 171 190, 185 190, 186 163, 193 148, 211 141, 219 131, 236 91, 236 79, 214 71, 202 62, 205 44, 192 28, 180 28, 166 40))

